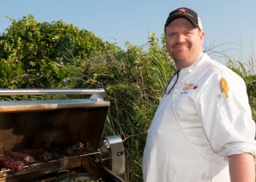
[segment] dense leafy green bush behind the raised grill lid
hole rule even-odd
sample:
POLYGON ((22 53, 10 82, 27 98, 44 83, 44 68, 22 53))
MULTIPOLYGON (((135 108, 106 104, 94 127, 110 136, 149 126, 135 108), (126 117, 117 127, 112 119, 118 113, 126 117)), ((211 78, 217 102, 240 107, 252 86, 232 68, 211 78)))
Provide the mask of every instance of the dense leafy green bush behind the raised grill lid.
POLYGON ((62 21, 38 23, 29 15, 12 20, 0 48, 1 87, 54 88, 67 86, 70 72, 63 66, 71 66, 69 55, 91 58, 105 49, 105 42, 62 21))

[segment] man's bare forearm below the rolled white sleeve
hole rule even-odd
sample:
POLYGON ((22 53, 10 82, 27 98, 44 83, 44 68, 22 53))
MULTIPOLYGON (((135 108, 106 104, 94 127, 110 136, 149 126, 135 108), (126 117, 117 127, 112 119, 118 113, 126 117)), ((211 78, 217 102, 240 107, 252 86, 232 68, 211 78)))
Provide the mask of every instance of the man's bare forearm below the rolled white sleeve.
POLYGON ((252 154, 229 157, 231 182, 255 182, 255 159, 252 154))

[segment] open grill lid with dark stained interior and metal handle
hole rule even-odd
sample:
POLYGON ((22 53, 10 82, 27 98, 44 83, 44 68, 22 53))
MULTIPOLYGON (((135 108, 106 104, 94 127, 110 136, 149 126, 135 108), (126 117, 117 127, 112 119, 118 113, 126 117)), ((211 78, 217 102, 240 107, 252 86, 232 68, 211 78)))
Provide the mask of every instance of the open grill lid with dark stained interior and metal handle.
POLYGON ((5 150, 82 142, 99 149, 110 103, 104 90, 0 90, 0 95, 91 94, 89 99, 0 102, 0 154, 5 150))

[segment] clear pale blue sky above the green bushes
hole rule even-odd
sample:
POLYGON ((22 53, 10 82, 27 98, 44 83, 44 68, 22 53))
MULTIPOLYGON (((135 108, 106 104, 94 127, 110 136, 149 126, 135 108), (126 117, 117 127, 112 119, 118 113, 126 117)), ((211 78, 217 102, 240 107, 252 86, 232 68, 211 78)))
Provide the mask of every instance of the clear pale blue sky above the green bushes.
POLYGON ((211 58, 225 63, 228 58, 248 66, 255 60, 255 0, 0 0, 0 35, 11 21, 29 14, 38 22, 62 20, 79 29, 92 31, 103 41, 126 49, 129 41, 138 47, 148 35, 158 38, 171 11, 179 7, 195 10, 206 32, 203 50, 211 58))

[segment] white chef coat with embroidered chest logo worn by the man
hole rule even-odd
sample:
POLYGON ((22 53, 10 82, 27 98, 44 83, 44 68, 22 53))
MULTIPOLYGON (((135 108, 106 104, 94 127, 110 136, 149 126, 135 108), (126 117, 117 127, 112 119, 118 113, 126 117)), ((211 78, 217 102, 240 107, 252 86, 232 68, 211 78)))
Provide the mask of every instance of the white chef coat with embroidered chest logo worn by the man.
POLYGON ((246 85, 202 53, 181 69, 173 90, 159 103, 143 152, 143 180, 227 182, 228 157, 241 153, 256 156, 246 85), (227 81, 228 98, 220 89, 221 78, 227 81))

